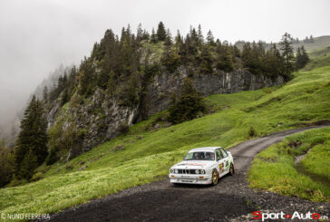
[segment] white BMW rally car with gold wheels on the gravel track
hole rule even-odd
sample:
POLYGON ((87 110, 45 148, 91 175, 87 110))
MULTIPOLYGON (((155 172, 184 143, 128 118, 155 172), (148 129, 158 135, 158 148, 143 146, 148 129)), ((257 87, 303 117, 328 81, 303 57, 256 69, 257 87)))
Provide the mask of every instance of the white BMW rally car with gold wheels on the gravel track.
POLYGON ((190 150, 183 161, 170 168, 171 183, 218 184, 226 174, 233 175, 234 159, 221 147, 205 147, 190 150))

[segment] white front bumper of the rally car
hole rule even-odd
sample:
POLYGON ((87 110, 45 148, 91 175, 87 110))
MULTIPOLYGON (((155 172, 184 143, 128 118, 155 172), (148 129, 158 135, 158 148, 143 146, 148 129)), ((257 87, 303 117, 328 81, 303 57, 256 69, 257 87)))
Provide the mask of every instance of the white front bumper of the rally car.
POLYGON ((210 184, 212 183, 212 175, 199 174, 169 174, 170 183, 185 183, 185 184, 210 184))

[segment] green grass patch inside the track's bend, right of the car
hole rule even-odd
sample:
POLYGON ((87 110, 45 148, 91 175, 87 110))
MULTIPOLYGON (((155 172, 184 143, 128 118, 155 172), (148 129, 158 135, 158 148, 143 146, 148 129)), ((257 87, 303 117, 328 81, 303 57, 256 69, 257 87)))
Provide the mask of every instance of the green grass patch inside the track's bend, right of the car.
POLYGON ((330 127, 326 127, 289 136, 257 154, 248 172, 251 188, 264 188, 313 201, 330 201, 328 186, 295 168, 295 157, 307 151, 302 160, 306 170, 330 179, 330 127))

